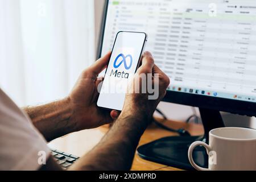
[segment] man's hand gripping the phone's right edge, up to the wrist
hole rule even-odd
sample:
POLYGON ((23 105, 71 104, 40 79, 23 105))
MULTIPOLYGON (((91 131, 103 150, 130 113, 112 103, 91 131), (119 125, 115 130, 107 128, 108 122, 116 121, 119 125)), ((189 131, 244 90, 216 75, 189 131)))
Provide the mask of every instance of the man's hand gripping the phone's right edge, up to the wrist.
MULTIPOLYGON (((152 85, 149 85, 149 88, 152 88, 152 85)), ((160 100, 165 96, 166 89, 170 85, 170 79, 168 76, 162 72, 155 64, 154 59, 150 52, 145 52, 142 58, 142 65, 138 68, 133 81, 130 83, 128 87, 128 93, 126 94, 125 104, 123 106, 123 110, 120 114, 120 117, 136 117, 141 118, 142 122, 145 121, 146 125, 150 122, 152 114, 154 113, 156 107, 158 106, 160 100), (148 87, 148 80, 146 84, 142 84, 142 75, 151 74, 150 77, 152 79, 152 85, 155 84, 158 89, 158 97, 155 100, 150 100, 148 96, 150 94, 148 92, 141 93, 143 90, 143 86, 148 87), (139 82, 139 93, 135 92, 135 84, 139 82)), ((138 88, 138 87, 137 87, 138 88)), ((144 88, 147 90, 147 88, 144 88)), ((136 90, 138 91, 138 90, 136 90)), ((148 91, 148 90, 147 90, 148 91)), ((113 114, 113 113, 112 113, 113 114)))

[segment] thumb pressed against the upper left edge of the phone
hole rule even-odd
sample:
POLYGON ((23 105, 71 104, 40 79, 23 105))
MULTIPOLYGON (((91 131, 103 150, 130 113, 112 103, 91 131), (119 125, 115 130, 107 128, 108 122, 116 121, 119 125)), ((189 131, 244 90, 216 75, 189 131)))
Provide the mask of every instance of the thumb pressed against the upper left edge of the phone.
POLYGON ((111 52, 108 52, 105 56, 98 59, 93 65, 91 65, 88 71, 94 73, 94 75, 98 75, 101 73, 109 63, 111 52))

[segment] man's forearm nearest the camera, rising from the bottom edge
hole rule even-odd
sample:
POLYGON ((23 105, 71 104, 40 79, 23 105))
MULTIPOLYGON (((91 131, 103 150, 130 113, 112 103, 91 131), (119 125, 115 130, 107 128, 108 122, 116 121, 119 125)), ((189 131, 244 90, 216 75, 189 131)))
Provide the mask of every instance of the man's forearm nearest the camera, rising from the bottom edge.
POLYGON ((101 142, 71 169, 129 170, 139 139, 147 126, 142 119, 150 118, 120 115, 101 142))

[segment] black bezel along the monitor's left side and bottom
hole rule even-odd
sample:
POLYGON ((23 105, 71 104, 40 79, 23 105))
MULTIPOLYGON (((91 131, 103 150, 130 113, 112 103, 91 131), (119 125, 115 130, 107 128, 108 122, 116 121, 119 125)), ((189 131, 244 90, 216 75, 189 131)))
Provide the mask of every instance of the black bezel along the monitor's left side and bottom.
MULTIPOLYGON (((108 14, 109 0, 105 0, 104 11, 102 14, 100 39, 98 41, 97 58, 101 57, 102 43, 104 40, 104 32, 106 25, 106 16, 108 14)), ((249 101, 232 100, 228 98, 220 98, 213 96, 202 96, 199 94, 191 94, 167 90, 164 102, 175 104, 201 107, 205 109, 225 111, 233 114, 256 116, 256 103, 249 101)))

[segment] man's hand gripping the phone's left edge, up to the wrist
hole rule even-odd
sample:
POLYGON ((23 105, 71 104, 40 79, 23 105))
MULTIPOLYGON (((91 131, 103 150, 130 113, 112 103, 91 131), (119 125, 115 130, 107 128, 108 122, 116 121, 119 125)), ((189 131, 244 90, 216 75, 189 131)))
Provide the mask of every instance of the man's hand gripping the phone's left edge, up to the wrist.
MULTIPOLYGON (((75 123, 77 130, 91 129, 113 121, 110 111, 96 105, 99 94, 97 88, 102 81, 97 76, 106 68, 109 58, 110 52, 85 69, 68 96, 73 110, 70 122, 75 123)), ((112 115, 115 116, 115 111, 112 111, 112 115)))

